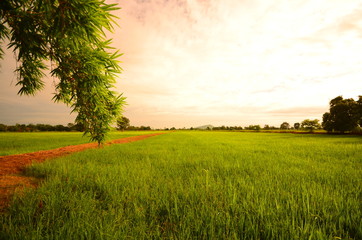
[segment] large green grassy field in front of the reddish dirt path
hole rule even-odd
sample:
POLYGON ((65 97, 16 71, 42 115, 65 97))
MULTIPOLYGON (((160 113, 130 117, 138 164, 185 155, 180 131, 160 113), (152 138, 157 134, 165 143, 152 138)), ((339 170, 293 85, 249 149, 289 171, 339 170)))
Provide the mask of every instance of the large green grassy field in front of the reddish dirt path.
POLYGON ((35 164, 0 239, 362 239, 362 138, 174 132, 35 164))

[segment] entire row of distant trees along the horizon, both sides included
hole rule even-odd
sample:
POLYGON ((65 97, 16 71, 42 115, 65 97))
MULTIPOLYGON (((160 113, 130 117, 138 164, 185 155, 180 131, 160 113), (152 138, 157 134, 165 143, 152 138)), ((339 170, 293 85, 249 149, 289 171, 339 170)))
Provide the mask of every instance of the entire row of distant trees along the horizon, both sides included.
MULTIPOLYGON (((268 124, 261 127, 260 125, 249 125, 246 127, 241 126, 220 126, 213 127, 209 125, 205 129, 201 130, 224 130, 224 131, 238 131, 238 130, 304 130, 313 132, 314 130, 324 129, 329 133, 333 132, 362 132, 362 96, 355 101, 352 98, 343 99, 342 96, 338 96, 332 99, 329 103, 329 112, 323 114, 323 122, 319 123, 318 119, 305 119, 301 123, 297 122, 290 125, 288 122, 283 122, 280 127, 270 126, 268 124)), ((131 126, 130 120, 127 117, 119 117, 117 119, 117 130, 151 130, 150 126, 131 126)), ((188 130, 200 130, 199 128, 191 127, 188 130)), ((176 130, 175 127, 165 128, 163 130, 176 130)), ((186 130, 182 128, 179 130, 186 130)), ((36 131, 84 131, 84 127, 81 124, 68 123, 63 125, 50 125, 50 124, 15 124, 7 126, 0 124, 0 132, 36 132, 36 131)))

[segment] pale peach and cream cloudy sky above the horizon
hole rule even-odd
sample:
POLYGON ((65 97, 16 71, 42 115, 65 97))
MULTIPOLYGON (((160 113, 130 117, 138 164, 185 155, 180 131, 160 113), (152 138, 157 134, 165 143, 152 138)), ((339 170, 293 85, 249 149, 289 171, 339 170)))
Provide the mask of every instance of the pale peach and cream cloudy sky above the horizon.
MULTIPOLYGON (((279 127, 320 119, 362 95, 362 0, 108 0, 108 36, 131 125, 279 127)), ((11 50, 0 60, 0 123, 73 122, 56 79, 18 96, 11 50)))

